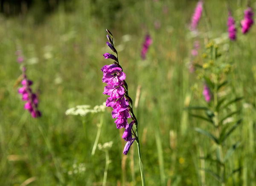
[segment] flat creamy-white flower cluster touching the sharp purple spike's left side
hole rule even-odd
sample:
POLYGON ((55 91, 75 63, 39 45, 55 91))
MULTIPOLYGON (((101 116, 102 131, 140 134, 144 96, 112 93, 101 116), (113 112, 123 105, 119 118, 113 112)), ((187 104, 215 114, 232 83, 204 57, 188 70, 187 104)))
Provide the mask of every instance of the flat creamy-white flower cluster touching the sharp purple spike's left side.
POLYGON ((90 107, 90 105, 78 105, 71 109, 67 109, 65 114, 86 116, 88 113, 104 112, 106 109, 106 103, 104 102, 102 105, 96 105, 93 109, 90 109, 90 107))

